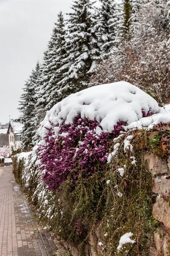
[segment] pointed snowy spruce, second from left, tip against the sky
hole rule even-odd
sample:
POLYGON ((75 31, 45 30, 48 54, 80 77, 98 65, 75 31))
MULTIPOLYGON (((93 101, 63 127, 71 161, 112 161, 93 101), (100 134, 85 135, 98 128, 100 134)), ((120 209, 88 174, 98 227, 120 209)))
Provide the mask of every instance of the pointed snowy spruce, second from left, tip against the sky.
POLYGON ((40 90, 37 92, 37 107, 45 110, 49 110, 57 103, 58 81, 62 79, 62 72, 59 68, 66 54, 65 24, 62 12, 59 12, 57 23, 54 24, 48 49, 44 52, 40 90))

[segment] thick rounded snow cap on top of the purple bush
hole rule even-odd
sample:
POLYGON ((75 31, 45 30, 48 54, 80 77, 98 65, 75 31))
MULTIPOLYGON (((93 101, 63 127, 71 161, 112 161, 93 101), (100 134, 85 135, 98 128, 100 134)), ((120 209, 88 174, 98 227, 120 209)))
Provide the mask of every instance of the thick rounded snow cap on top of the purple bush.
POLYGON ((159 113, 160 109, 155 99, 128 82, 101 84, 71 94, 54 105, 41 122, 39 133, 43 138, 52 123, 71 124, 78 114, 81 118, 96 119, 103 131, 111 133, 118 121, 130 125, 142 118, 142 111, 159 113))

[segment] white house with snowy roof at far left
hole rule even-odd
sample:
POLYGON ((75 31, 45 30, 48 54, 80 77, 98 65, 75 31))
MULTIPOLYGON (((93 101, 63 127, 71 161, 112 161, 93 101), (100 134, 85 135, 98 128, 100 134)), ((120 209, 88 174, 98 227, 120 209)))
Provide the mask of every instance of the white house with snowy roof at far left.
POLYGON ((8 139, 9 139, 9 147, 10 147, 11 151, 21 148, 22 128, 23 128, 23 125, 21 123, 10 121, 7 134, 8 134, 8 139))

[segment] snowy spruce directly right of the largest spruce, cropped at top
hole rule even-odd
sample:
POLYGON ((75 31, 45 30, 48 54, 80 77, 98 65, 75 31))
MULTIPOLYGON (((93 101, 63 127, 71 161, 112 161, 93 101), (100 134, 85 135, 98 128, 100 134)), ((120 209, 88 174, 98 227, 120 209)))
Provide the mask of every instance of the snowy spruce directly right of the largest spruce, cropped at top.
POLYGON ((101 45, 102 58, 108 58, 118 50, 122 36, 123 17, 121 4, 115 0, 100 0, 97 16, 97 36, 101 45))

